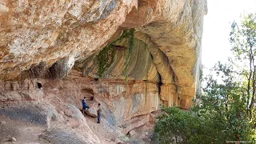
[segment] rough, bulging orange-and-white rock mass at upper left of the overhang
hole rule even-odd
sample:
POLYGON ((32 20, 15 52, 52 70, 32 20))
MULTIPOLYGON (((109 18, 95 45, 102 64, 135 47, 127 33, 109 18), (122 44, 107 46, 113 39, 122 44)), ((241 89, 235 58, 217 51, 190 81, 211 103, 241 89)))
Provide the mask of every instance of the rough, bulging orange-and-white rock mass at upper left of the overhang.
POLYGON ((134 1, 1 1, 2 79, 32 64, 90 55, 125 21, 134 1))

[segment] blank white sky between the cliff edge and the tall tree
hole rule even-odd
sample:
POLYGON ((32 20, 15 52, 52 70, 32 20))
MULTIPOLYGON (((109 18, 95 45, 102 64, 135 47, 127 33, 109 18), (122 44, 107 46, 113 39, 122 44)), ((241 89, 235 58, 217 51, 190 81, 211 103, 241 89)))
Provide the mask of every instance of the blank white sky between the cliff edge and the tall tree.
POLYGON ((256 13, 256 0, 208 0, 202 34, 202 65, 211 68, 231 55, 230 30, 241 14, 256 13))

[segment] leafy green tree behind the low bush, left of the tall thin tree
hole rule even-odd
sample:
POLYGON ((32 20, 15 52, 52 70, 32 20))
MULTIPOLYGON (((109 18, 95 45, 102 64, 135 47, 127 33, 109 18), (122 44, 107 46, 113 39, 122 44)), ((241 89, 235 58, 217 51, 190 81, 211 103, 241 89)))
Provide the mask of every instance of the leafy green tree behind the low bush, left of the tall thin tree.
MULTIPOLYGON (((233 66, 232 62, 218 62, 214 66, 215 74, 205 78, 200 114, 204 117, 214 115, 214 120, 220 120, 221 129, 226 132, 226 140, 248 141, 253 134, 253 128, 246 115, 246 88, 233 66), (214 76, 221 79, 215 79, 214 76)), ((214 122, 216 123, 218 126, 218 122, 214 122)))

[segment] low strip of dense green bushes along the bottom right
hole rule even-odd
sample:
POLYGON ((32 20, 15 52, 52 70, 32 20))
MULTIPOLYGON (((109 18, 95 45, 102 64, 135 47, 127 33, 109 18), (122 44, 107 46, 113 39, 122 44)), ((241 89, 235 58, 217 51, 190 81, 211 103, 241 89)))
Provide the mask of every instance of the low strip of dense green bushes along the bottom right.
POLYGON ((154 126, 154 136, 159 143, 225 143, 250 140, 250 123, 248 121, 229 121, 215 113, 184 111, 177 107, 162 109, 164 114, 158 117, 154 126), (240 131, 240 132, 239 132, 240 131))

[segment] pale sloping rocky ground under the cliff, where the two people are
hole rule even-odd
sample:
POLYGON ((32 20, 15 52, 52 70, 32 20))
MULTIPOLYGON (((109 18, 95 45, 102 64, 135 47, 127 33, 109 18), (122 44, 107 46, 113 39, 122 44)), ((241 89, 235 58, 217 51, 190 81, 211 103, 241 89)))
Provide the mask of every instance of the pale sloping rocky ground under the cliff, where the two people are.
MULTIPOLYGON (((0 143, 150 143, 153 123, 147 122, 123 134, 120 127, 106 120, 106 114, 98 124, 97 118, 82 115, 72 101, 46 96, 47 90, 35 91, 34 101, 13 99, 2 102, 0 143)), ((17 93, 16 98, 19 97, 17 93)), ((91 106, 90 115, 95 115, 98 103, 91 98, 87 103, 91 106)))

